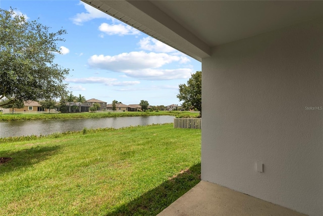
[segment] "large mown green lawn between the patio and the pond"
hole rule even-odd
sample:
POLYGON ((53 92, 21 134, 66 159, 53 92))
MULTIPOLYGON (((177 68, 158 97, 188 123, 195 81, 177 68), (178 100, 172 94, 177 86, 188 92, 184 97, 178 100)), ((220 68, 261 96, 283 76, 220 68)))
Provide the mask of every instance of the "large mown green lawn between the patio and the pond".
POLYGON ((163 124, 3 143, 0 215, 156 215, 199 182, 200 138, 163 124))

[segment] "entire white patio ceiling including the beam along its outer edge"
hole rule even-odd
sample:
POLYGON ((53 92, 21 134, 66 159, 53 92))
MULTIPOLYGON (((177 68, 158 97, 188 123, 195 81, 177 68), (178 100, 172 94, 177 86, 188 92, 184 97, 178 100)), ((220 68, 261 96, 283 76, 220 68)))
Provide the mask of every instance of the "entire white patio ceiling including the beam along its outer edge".
POLYGON ((81 1, 198 61, 212 47, 323 17, 323 1, 81 1))

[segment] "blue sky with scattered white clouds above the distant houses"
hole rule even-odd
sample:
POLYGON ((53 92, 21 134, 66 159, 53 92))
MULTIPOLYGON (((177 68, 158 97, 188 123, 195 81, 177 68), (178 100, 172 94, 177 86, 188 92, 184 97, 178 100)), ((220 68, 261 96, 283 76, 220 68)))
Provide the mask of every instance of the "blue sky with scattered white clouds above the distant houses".
POLYGON ((1 9, 10 7, 51 32, 67 30, 55 63, 70 69, 69 91, 87 100, 180 105, 178 85, 201 70, 195 59, 80 1, 0 0, 1 9))

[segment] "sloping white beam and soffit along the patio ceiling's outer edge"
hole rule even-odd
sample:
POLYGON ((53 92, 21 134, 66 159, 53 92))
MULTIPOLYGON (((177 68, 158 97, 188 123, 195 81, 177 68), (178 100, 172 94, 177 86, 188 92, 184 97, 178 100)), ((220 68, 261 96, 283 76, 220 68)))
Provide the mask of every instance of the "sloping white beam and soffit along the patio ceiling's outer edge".
POLYGON ((198 61, 210 56, 210 47, 148 1, 81 1, 198 61))

